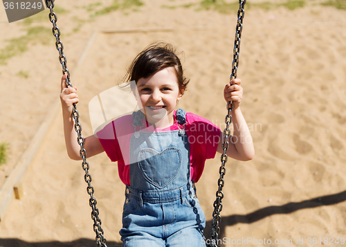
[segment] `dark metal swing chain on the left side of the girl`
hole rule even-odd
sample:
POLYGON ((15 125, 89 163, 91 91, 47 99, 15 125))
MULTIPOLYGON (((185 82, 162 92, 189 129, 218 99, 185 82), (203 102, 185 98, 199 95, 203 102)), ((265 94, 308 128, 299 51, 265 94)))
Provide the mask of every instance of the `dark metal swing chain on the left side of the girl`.
MULTIPOLYGON (((67 69, 67 60, 63 51, 64 46, 60 40, 60 29, 57 27, 57 15, 55 14, 55 12, 53 12, 54 0, 49 0, 49 1, 46 0, 46 6, 47 8, 49 8, 49 10, 51 10, 48 17, 51 23, 53 24, 52 32, 56 39, 55 47, 57 48, 57 51, 59 51, 59 61, 60 61, 60 64, 62 64, 62 74, 63 75, 65 73, 67 74, 67 77, 65 80, 66 87, 69 87, 69 86, 72 86, 71 80, 70 80, 70 72, 67 69)), ((89 205, 92 208, 91 219, 93 219, 93 230, 96 234, 96 237, 95 237, 96 244, 98 244, 98 246, 107 247, 107 240, 103 237, 104 232, 101 228, 101 219, 100 217, 98 217, 99 210, 96 207, 97 201, 95 197, 93 196, 94 189, 93 189, 93 186, 91 186, 92 179, 91 179, 91 175, 89 174, 89 163, 86 161, 86 150, 84 149, 84 138, 82 136, 82 126, 80 125, 80 121, 79 121, 80 114, 77 111, 77 107, 75 106, 75 103, 73 103, 72 117, 75 120, 74 127, 78 135, 77 142, 80 145, 80 156, 83 159, 82 169, 85 172, 84 181, 88 184, 88 186, 86 187, 86 192, 90 195, 89 205)))

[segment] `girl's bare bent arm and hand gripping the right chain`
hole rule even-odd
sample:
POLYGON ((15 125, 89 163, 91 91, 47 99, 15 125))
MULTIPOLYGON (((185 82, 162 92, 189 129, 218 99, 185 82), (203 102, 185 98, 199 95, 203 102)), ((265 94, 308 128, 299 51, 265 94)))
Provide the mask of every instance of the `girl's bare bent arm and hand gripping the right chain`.
MULTIPOLYGON (((250 161, 255 156, 253 147, 253 138, 251 137, 248 125, 240 110, 240 103, 243 98, 243 88, 240 86, 240 79, 234 79, 227 84, 224 89, 224 98, 226 102, 233 101, 234 107, 231 111, 233 122, 233 136, 228 138, 227 155, 239 161, 250 161)), ((222 143, 224 136, 221 134, 217 152, 222 153, 222 143)))

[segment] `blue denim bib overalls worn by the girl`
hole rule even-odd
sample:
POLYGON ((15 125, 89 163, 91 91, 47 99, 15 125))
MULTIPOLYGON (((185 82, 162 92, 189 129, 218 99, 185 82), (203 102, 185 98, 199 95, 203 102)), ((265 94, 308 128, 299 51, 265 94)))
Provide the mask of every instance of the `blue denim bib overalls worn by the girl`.
POLYGON ((176 111, 178 130, 140 131, 136 111, 130 141, 130 182, 120 230, 123 247, 200 247, 206 217, 190 175, 190 144, 185 111, 176 111))

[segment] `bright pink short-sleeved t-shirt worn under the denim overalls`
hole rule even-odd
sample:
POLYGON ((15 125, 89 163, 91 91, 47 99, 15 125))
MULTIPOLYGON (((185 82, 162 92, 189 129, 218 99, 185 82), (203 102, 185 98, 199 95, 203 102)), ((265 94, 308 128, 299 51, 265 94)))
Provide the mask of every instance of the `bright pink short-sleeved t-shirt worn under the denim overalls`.
MULTIPOLYGON (((148 128, 142 128, 140 131, 172 131, 179 129, 175 116, 176 111, 174 111, 174 125, 165 129, 153 129, 144 118, 143 125, 148 128)), ((186 113, 185 118, 187 122, 185 131, 188 134, 190 143, 191 178, 192 181, 197 182, 203 172, 206 159, 215 157, 221 130, 209 120, 193 113, 186 113)), ((131 115, 122 116, 96 133, 107 156, 113 162, 118 161, 119 176, 125 185, 131 185, 129 179, 129 147, 131 136, 135 131, 132 122, 131 115)), ((139 129, 140 127, 136 127, 136 131, 139 129)))

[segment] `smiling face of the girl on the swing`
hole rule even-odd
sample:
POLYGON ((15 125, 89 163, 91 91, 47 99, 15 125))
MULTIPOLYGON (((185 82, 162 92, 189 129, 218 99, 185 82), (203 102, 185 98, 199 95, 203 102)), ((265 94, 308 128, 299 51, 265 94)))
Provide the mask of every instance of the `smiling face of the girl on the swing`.
POLYGON ((144 111, 147 121, 155 125, 167 116, 161 129, 173 125, 174 109, 183 94, 179 90, 178 80, 173 67, 163 68, 147 79, 137 82, 138 105, 144 111), (140 105, 141 104, 141 105, 140 105), (168 125, 168 126, 165 126, 168 125))

